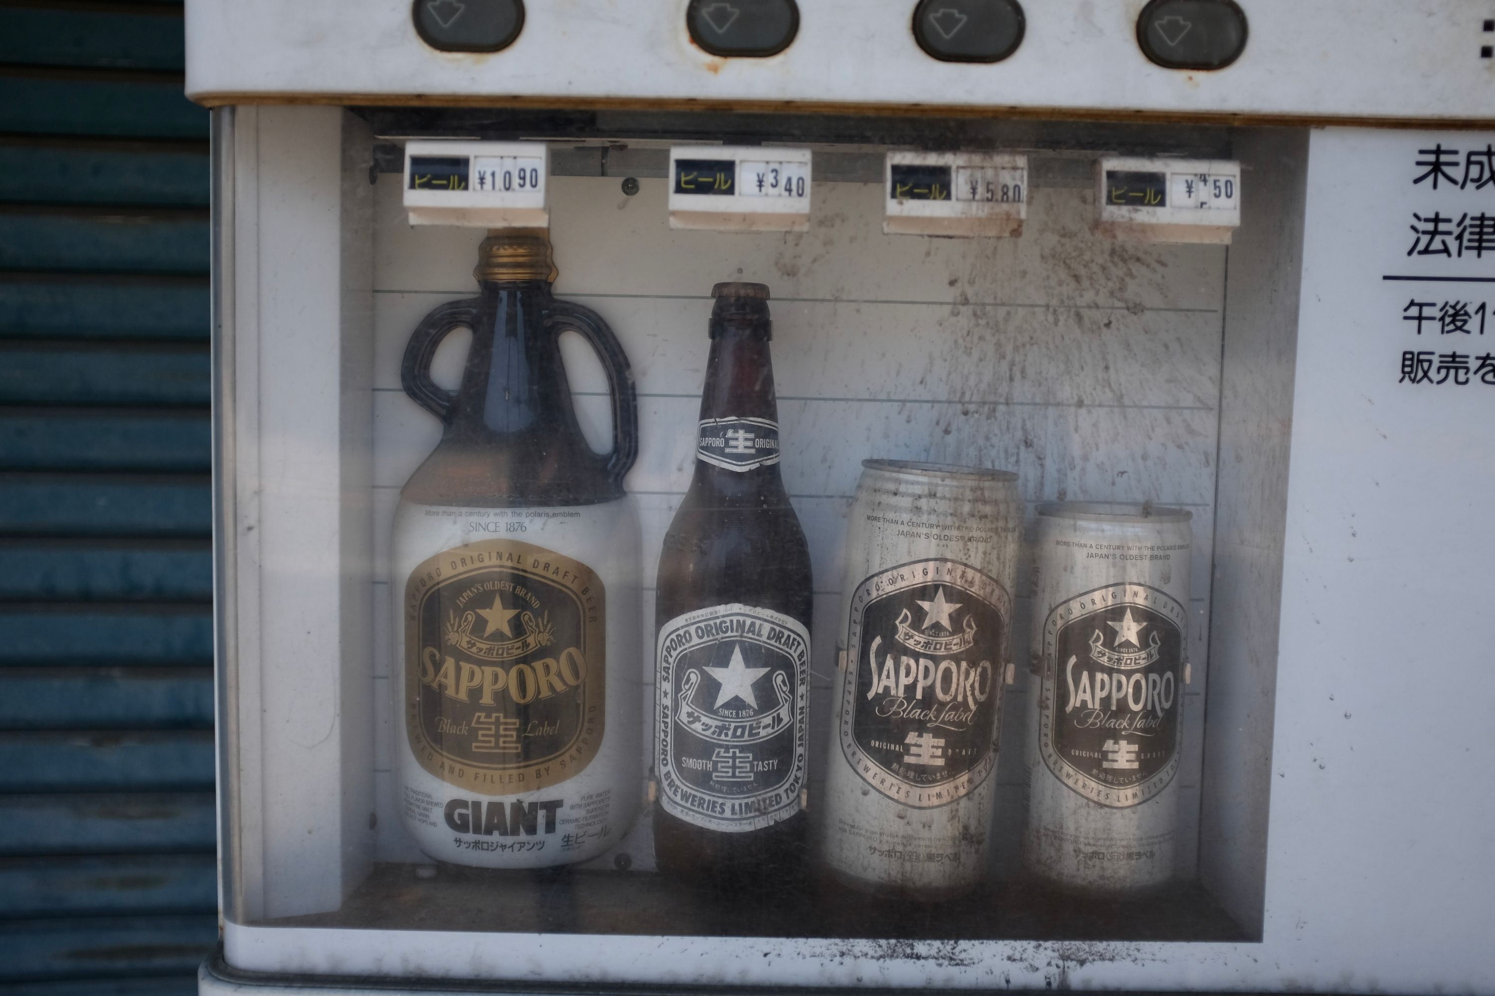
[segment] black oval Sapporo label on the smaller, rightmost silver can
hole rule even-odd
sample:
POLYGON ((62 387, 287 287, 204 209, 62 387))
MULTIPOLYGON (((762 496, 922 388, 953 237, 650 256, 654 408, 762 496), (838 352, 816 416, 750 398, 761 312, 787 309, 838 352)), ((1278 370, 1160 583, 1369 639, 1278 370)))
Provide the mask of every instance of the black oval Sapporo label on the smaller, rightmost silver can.
POLYGON ((1039 754, 1061 782, 1117 809, 1178 772, 1184 605, 1145 584, 1069 599, 1044 623, 1039 754))

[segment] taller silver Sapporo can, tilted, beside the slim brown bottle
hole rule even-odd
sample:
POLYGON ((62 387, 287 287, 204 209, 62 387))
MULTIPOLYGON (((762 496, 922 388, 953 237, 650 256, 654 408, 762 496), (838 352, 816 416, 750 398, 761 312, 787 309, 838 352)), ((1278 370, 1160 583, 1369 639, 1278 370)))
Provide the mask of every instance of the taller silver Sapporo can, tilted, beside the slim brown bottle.
POLYGON ((1017 475, 863 461, 819 857, 915 899, 987 874, 1023 524, 1017 475))

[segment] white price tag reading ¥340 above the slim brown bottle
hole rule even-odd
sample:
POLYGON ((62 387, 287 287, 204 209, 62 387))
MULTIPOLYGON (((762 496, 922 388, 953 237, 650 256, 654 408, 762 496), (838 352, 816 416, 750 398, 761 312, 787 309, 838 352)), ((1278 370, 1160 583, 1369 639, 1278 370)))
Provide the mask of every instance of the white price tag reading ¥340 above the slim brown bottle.
POLYGON ((670 227, 804 231, 810 227, 810 151, 670 149, 670 227))

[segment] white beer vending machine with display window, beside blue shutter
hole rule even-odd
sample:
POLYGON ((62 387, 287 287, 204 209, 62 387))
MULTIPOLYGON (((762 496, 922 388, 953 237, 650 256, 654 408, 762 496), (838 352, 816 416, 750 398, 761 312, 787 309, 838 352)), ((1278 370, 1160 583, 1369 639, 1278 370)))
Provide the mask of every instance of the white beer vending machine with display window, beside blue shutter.
POLYGON ((1495 992, 1495 6, 187 52, 202 992, 1495 992))

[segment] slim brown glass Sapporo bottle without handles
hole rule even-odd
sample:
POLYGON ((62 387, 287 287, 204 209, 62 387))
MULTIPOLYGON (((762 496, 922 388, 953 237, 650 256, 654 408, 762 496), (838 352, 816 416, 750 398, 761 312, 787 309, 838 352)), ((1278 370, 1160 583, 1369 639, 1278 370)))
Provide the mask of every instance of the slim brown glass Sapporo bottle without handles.
POLYGON ((695 476, 659 555, 655 856, 782 887, 806 839, 810 554, 779 475, 768 288, 712 296, 695 476))

